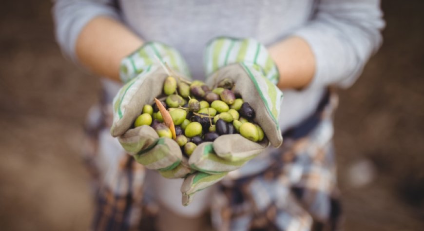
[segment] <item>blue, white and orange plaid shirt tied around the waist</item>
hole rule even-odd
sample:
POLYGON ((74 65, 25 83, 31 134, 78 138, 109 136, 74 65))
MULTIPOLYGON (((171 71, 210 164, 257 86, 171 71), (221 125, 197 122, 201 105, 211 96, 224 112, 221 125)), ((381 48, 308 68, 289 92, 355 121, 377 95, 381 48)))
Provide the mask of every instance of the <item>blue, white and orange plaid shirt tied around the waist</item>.
MULTIPOLYGON (((340 229, 332 147, 332 115, 337 103, 336 94, 329 94, 312 120, 283 134, 283 145, 269 154, 271 164, 264 171, 248 176, 230 174, 218 183, 211 203, 217 230, 340 229)), ((84 159, 96 193, 93 229, 154 230, 153 222, 142 222, 151 221, 146 218, 157 213, 155 202, 143 197, 146 170, 110 136, 111 118, 111 102, 103 100, 92 109, 86 125, 84 159)))

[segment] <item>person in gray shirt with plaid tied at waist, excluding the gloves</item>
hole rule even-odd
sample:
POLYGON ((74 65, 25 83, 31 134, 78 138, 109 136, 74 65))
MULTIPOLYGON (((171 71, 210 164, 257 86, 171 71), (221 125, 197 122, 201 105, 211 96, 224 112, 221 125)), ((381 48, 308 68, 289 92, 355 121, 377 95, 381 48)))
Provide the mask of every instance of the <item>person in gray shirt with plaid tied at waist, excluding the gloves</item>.
MULTIPOLYGON (((333 89, 351 86, 380 47, 385 22, 379 0, 57 0, 53 15, 63 53, 104 77, 101 103, 87 119, 84 152, 96 184, 94 230, 178 230, 178 222, 184 230, 203 230, 199 217, 209 209, 217 230, 340 228, 332 147, 338 100, 333 89), (185 59, 188 66, 181 61, 173 68, 203 79, 226 68, 219 61, 215 68, 210 64, 229 52, 229 47, 214 43, 223 36, 240 38, 234 39, 236 46, 266 47, 278 70, 270 76, 284 92, 281 105, 274 105, 281 112, 277 124, 284 142, 196 193, 182 207, 182 179, 147 170, 110 135, 115 123, 112 101, 122 81, 134 77, 122 75, 121 65, 130 54, 149 54, 146 44, 172 50, 169 54, 185 59)), ((243 58, 253 56, 247 52, 243 58)), ((259 69, 266 70, 264 65, 259 69)), ((146 71, 137 68, 135 76, 146 71)))

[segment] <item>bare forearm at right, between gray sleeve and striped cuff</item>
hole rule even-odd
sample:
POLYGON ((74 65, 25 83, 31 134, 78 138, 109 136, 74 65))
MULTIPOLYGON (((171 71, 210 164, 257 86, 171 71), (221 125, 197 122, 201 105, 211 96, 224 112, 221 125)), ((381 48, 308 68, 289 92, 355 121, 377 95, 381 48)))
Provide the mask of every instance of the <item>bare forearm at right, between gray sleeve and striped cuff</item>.
POLYGON ((315 74, 315 58, 308 43, 299 37, 290 37, 269 47, 280 73, 280 89, 302 89, 315 74))

